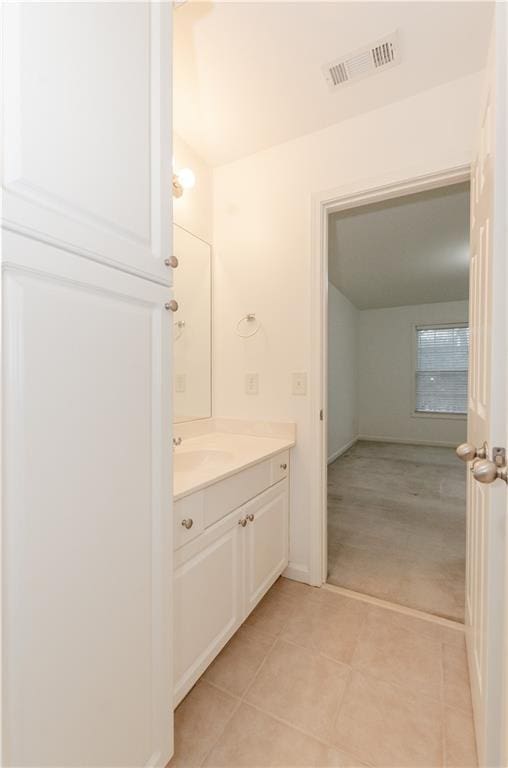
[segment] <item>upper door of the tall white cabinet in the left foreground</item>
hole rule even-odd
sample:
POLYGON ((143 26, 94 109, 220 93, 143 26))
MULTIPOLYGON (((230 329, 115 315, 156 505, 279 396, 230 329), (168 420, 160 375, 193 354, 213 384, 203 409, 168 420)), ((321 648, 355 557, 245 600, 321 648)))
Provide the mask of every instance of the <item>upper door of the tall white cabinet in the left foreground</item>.
POLYGON ((2 15, 4 226, 168 284, 169 3, 2 15))

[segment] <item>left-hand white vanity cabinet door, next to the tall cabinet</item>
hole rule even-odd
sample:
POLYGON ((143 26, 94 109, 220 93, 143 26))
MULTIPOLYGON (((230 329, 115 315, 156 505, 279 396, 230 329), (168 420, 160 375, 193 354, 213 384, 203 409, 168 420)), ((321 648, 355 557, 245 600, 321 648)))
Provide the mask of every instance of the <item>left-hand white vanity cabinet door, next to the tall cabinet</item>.
POLYGON ((243 529, 238 515, 188 545, 175 570, 175 704, 242 621, 243 529))

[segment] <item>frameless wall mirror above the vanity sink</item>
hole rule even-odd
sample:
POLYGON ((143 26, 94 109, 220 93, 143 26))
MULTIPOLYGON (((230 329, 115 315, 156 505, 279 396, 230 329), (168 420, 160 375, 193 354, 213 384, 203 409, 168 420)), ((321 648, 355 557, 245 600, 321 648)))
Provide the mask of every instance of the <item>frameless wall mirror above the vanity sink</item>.
POLYGON ((174 421, 212 415, 212 253, 204 240, 173 226, 178 311, 173 325, 174 421))

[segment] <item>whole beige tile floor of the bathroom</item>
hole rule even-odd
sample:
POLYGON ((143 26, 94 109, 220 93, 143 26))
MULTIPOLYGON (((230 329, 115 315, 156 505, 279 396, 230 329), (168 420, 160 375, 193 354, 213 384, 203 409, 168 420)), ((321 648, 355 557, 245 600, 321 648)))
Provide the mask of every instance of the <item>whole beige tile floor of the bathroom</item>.
POLYGON ((464 634, 281 578, 177 708, 170 766, 476 766, 464 634))

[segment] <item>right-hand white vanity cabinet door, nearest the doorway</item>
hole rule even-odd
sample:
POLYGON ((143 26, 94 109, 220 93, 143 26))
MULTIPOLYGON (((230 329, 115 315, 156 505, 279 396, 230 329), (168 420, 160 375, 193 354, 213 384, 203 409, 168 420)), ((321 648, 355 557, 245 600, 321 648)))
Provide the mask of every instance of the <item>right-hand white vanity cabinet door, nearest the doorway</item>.
POLYGON ((245 611, 249 614, 288 563, 288 482, 278 483, 242 507, 247 525, 245 611))

